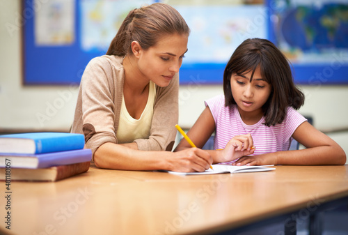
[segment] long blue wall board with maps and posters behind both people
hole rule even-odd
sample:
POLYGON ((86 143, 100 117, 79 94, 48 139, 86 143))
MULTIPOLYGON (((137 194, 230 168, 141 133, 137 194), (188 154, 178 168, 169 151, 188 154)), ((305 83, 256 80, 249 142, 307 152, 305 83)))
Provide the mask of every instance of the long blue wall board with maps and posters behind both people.
MULTIPOLYGON (((129 10, 153 2, 24 1, 22 12, 31 12, 32 17, 26 17, 22 33, 23 84, 79 84, 88 61, 106 53, 129 10)), ((222 84, 223 70, 232 52, 246 38, 255 37, 269 38, 283 50, 294 67, 296 83, 348 84, 348 22, 345 18, 338 18, 339 24, 330 21, 347 14, 348 0, 321 0, 319 5, 313 0, 317 3, 315 8, 311 0, 304 6, 299 1, 283 0, 248 5, 208 2, 202 1, 199 6, 189 1, 168 2, 191 29, 180 84, 222 84), (296 21, 296 15, 304 13, 308 15, 303 16, 303 23, 296 21), (329 15, 326 24, 318 19, 315 23, 318 13, 329 15), (290 33, 289 28, 301 30, 290 33), (303 43, 308 38, 312 39, 310 43, 303 43)))

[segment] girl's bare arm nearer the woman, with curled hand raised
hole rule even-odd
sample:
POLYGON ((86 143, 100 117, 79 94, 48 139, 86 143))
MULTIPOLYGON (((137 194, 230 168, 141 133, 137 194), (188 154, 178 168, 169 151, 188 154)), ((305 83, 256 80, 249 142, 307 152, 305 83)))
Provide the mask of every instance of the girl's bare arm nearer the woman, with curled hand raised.
MULTIPOLYGON (((209 107, 205 107, 202 114, 198 117, 196 123, 192 128, 187 132, 187 136, 192 140, 192 142, 198 147, 203 148, 204 144, 207 142, 209 137, 215 130, 215 121, 210 112, 209 107)), ((235 160, 241 156, 246 156, 252 154, 254 149, 251 149, 253 146, 253 139, 251 135, 241 135, 230 139, 230 142, 226 145, 226 148, 223 150, 205 150, 212 156, 213 163, 227 162, 230 160, 235 160), (244 145, 242 146, 242 143, 244 145)), ((190 144, 186 139, 182 139, 177 145, 174 151, 181 151, 184 149, 191 148, 190 144)))

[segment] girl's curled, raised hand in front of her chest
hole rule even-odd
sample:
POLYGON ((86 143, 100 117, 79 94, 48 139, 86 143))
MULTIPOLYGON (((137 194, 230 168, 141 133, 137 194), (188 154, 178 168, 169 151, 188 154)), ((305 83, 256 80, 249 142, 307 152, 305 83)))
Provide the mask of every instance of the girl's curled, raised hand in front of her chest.
POLYGON ((251 137, 251 134, 237 135, 226 144, 219 162, 235 160, 236 158, 253 154, 254 151, 255 147, 253 146, 253 137, 251 137))

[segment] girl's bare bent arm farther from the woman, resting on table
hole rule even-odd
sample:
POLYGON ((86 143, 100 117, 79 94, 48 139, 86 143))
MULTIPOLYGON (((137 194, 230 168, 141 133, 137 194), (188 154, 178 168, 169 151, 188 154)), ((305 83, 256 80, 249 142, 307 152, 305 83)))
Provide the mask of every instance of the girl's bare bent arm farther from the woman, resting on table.
POLYGON ((243 157, 234 165, 345 165, 345 151, 308 121, 303 122, 292 137, 307 149, 243 157))

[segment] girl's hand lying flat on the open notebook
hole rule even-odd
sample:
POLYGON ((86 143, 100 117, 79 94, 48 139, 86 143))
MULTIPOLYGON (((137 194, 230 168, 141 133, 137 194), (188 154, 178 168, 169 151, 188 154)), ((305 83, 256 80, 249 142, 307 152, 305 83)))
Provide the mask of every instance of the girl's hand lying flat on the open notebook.
POLYGON ((244 156, 232 163, 234 166, 256 166, 256 165, 277 165, 276 154, 267 153, 258 156, 244 156))

